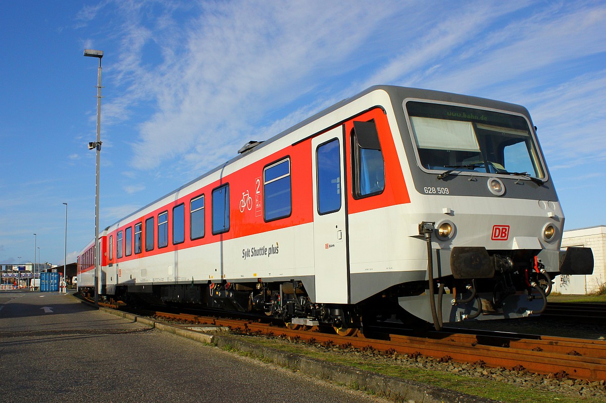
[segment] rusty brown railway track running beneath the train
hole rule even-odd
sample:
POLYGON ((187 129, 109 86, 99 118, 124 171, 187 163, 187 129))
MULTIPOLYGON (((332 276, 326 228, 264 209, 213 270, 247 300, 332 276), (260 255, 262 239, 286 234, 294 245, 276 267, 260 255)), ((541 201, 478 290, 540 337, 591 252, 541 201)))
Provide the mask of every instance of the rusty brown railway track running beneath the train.
MULTIPOLYGON (((113 303, 102 304, 117 309, 113 303)), ((552 315, 557 312, 575 312, 574 317, 591 318, 591 315, 579 315, 585 304, 551 304, 552 315)), ((599 305, 599 304, 596 304, 599 305)), ((595 307, 593 312, 602 312, 595 307)), ((585 379, 587 381, 606 380, 606 341, 555 336, 522 335, 516 333, 498 333, 473 331, 464 333, 461 329, 445 328, 441 332, 415 332, 404 330, 394 324, 371 326, 366 334, 340 336, 330 333, 332 328, 279 325, 271 318, 221 318, 217 316, 196 315, 193 313, 171 313, 156 310, 132 310, 129 312, 158 319, 176 321, 188 325, 212 325, 228 327, 234 332, 249 335, 278 336, 285 339, 297 339, 309 344, 337 346, 342 349, 375 350, 391 355, 398 353, 409 356, 428 356, 439 361, 470 363, 486 367, 504 367, 512 370, 547 375, 549 378, 585 379)), ((222 312, 225 315, 225 312, 222 312)), ((597 314, 595 314, 597 315, 597 314)), ((564 315, 559 315, 564 316, 564 315)), ((571 315, 573 316, 573 315, 571 315)))

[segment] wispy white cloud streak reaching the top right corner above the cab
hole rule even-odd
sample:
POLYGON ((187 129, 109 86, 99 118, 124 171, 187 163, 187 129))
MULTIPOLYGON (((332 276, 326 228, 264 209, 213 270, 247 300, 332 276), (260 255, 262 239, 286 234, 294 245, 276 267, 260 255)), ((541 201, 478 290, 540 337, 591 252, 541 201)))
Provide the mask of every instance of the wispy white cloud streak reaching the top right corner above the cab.
POLYGON ((473 52, 451 60, 428 83, 431 88, 462 93, 502 85, 499 92, 511 94, 528 79, 538 87, 556 71, 565 72, 572 62, 606 51, 605 24, 604 5, 563 15, 527 15, 492 30, 487 38, 491 47, 473 46, 473 52))

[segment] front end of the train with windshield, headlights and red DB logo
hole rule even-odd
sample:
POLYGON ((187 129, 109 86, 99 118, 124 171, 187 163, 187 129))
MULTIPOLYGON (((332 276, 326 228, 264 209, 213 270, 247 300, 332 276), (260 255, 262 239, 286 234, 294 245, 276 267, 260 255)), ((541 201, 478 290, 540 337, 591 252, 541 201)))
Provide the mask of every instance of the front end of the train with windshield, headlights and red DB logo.
POLYGON ((560 251, 564 214, 525 108, 438 94, 402 110, 429 281, 400 306, 436 328, 533 315, 554 275, 593 271, 591 249, 560 251))

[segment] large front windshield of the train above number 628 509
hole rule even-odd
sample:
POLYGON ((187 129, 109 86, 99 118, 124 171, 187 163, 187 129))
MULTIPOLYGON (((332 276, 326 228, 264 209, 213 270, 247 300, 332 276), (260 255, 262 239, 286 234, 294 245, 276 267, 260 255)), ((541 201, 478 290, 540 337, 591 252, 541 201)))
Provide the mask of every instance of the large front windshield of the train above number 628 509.
POLYGON ((406 103, 406 110, 425 169, 545 177, 522 116, 413 101, 406 103))

